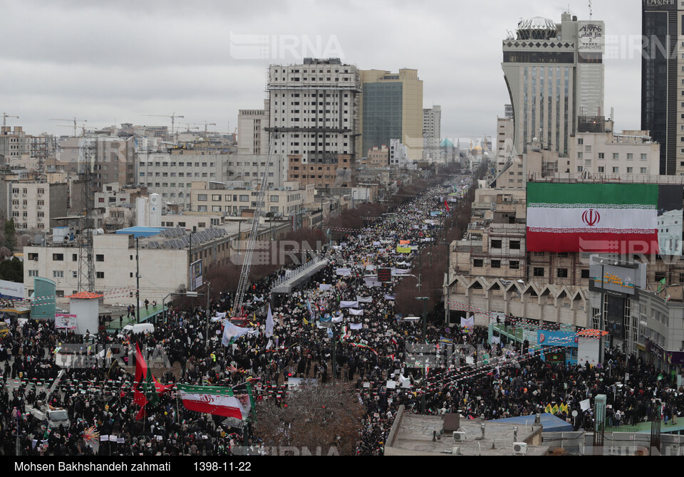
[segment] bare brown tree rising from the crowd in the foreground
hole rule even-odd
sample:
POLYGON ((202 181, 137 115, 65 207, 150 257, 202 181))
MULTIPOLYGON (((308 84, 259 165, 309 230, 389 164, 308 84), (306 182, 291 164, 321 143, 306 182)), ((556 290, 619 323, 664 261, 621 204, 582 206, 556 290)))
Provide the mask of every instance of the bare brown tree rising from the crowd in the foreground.
POLYGON ((266 399, 257 405, 254 434, 267 447, 352 456, 364 412, 355 394, 353 387, 333 384, 303 386, 283 402, 266 399))

